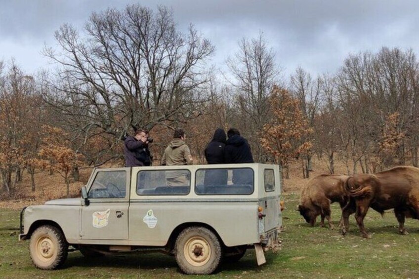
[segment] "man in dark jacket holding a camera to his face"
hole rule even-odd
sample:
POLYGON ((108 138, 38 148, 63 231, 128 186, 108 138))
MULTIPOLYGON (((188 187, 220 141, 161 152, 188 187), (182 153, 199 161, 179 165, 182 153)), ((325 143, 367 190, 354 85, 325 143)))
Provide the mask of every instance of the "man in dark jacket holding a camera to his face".
POLYGON ((135 131, 134 136, 127 136, 124 140, 125 166, 149 166, 151 165, 150 150, 148 144, 153 139, 143 129, 135 131))

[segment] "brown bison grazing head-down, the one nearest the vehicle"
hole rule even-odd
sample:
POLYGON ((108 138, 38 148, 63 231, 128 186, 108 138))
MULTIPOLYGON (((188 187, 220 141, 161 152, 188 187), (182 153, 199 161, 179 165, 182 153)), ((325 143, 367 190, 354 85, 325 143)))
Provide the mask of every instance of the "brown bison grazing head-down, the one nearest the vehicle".
POLYGON ((344 184, 348 177, 340 174, 321 174, 312 178, 305 185, 301 191, 298 211, 307 223, 314 226, 317 216, 320 215, 320 226, 324 226, 326 218, 329 222, 329 228, 333 228, 330 220, 330 204, 336 201, 339 202, 340 208, 346 205, 348 196, 345 193, 344 184))

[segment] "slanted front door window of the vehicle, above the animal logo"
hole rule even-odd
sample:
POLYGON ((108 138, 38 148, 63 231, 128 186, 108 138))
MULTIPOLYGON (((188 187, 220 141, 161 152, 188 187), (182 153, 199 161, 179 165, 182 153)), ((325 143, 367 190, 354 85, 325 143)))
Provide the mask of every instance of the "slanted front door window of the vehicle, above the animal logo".
POLYGON ((89 189, 89 198, 125 198, 126 171, 99 171, 89 189))

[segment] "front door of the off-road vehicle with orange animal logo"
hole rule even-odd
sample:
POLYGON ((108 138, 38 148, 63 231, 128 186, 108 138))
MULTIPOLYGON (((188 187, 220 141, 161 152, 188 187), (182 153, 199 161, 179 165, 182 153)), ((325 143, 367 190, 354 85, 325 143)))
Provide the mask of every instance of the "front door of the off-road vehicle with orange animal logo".
POLYGON ((128 239, 130 168, 96 169, 82 208, 82 239, 128 239))

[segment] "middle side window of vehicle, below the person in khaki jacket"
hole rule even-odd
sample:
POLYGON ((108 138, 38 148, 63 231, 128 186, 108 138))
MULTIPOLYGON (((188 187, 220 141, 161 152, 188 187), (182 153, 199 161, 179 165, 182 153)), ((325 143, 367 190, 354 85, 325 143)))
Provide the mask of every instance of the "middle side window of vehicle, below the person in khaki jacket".
POLYGON ((137 195, 187 195, 191 173, 179 170, 141 170, 137 174, 137 195))

